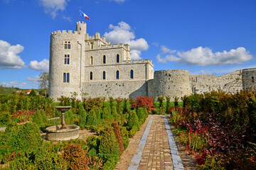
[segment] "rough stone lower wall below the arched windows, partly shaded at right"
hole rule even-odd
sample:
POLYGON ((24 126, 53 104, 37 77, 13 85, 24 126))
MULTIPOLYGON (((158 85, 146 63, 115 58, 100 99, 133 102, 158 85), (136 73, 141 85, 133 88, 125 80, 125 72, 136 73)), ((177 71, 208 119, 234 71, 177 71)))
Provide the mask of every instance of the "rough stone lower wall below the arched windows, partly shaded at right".
POLYGON ((147 96, 146 81, 97 81, 82 83, 83 97, 136 98, 147 96))

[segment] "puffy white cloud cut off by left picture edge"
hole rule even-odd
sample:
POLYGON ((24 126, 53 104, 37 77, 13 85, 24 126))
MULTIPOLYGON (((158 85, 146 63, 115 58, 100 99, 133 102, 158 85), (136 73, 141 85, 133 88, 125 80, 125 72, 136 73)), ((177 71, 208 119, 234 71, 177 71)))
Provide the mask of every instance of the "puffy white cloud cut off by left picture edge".
POLYGON ((24 47, 21 45, 10 45, 9 42, 0 40, 0 69, 21 69, 25 66, 18 53, 22 52, 24 47))

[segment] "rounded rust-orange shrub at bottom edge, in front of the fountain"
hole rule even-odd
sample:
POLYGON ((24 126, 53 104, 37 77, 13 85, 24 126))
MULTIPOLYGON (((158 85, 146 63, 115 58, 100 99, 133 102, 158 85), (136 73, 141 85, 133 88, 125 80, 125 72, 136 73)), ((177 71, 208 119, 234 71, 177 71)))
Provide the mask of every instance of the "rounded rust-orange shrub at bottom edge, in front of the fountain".
POLYGON ((63 159, 68 162, 69 169, 89 169, 86 152, 78 143, 71 143, 63 148, 63 159))

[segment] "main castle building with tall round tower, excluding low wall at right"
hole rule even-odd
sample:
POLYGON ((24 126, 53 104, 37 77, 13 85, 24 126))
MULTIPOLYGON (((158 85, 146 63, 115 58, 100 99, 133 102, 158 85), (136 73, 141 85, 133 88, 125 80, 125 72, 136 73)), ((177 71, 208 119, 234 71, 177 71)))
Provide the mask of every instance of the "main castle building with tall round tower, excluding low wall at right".
POLYGON ((51 33, 49 96, 147 96, 146 81, 154 79, 151 60, 132 61, 129 45, 111 45, 86 29, 86 23, 78 22, 74 32, 51 33))

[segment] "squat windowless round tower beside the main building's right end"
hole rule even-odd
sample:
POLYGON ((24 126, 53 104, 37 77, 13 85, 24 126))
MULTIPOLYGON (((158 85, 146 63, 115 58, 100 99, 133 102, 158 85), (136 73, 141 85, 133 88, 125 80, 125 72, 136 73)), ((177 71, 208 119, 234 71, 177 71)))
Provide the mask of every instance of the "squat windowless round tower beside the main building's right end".
POLYGON ((154 91, 154 96, 169 96, 171 101, 178 97, 181 101, 182 96, 192 93, 188 70, 168 69, 154 72, 154 91))

